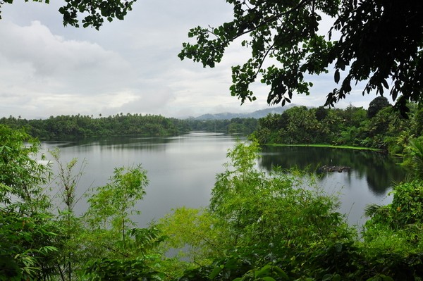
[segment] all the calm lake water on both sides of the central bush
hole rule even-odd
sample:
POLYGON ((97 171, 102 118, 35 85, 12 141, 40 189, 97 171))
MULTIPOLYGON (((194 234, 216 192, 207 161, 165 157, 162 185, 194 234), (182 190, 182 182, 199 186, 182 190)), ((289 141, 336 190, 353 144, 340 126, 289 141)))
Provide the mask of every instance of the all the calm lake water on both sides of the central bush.
MULTIPOLYGON (((140 226, 159 219, 172 208, 207 206, 216 173, 223 172, 226 153, 237 137, 192 132, 178 137, 115 137, 77 142, 43 142, 44 151, 59 147, 63 162, 78 158, 86 161, 85 173, 78 185, 78 196, 90 187, 105 185, 115 167, 142 164, 149 186, 145 199, 137 205, 142 216, 140 226)), ((350 223, 362 224, 366 204, 386 204, 393 181, 401 181, 404 172, 384 155, 343 149, 310 147, 265 147, 259 166, 316 168, 322 165, 350 166, 343 173, 325 173, 321 184, 329 192, 341 191, 343 213, 350 223)), ((87 208, 81 199, 75 211, 87 208)))

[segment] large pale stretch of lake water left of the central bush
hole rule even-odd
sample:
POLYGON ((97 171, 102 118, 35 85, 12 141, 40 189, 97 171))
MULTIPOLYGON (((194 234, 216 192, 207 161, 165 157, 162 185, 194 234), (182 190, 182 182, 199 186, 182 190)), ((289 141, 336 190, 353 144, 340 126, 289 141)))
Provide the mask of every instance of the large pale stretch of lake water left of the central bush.
MULTIPOLYGON (((192 132, 177 137, 112 137, 69 142, 43 142, 44 151, 59 147, 61 161, 85 159, 87 166, 78 185, 78 197, 90 187, 105 185, 115 167, 141 164, 149 185, 137 204, 140 226, 170 213, 172 208, 198 208, 209 204, 217 173, 223 172, 226 153, 238 137, 192 132)), ((87 209, 81 200, 77 213, 87 209)))

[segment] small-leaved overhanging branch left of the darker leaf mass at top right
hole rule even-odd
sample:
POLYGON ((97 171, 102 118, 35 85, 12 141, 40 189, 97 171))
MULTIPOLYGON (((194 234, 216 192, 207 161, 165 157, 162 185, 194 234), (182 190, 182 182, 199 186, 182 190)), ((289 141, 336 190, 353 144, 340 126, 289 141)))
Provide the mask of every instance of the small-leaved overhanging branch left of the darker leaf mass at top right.
POLYGON ((250 35, 241 44, 252 49, 252 57, 232 68, 231 94, 242 102, 254 101, 249 86, 260 73, 262 82, 271 87, 269 104, 290 102, 295 90, 309 94, 311 83, 305 82, 303 73, 326 72, 324 58, 332 46, 317 35, 319 13, 336 15, 339 1, 227 2, 233 4, 234 19, 216 28, 193 28, 188 37, 196 37, 196 44, 184 43, 178 56, 214 67, 229 44, 250 35), (211 35, 213 38, 209 39, 211 35), (269 57, 280 62, 280 67, 271 65, 264 69, 264 61, 269 57))

